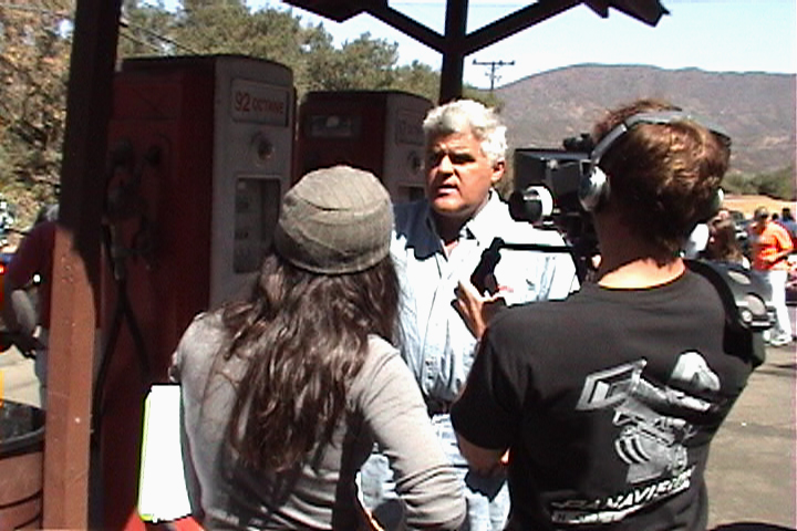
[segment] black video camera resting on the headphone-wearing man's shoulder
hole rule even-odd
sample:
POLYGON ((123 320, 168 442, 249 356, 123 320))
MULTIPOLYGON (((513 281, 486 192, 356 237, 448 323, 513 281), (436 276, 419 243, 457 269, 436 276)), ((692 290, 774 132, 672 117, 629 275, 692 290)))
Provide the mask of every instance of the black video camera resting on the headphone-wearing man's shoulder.
MULTIPOLYGON (((630 125, 625 125, 625 129, 628 127, 630 125)), ((594 147, 591 137, 582 134, 562 140, 562 148, 559 149, 515 150, 515 183, 509 196, 511 217, 518 221, 556 228, 562 233, 566 246, 516 246, 496 238, 474 271, 470 279, 474 285, 484 290, 484 278, 500 260, 499 251, 504 247, 569 252, 576 261, 581 281, 594 271, 592 258, 600 252, 598 238, 592 216, 580 200, 584 175, 596 164, 594 152, 601 152, 594 147)), ((717 198, 721 202, 721 192, 717 198)), ((766 353, 762 332, 774 323, 772 293, 766 283, 755 272, 732 263, 687 260, 686 266, 706 278, 722 299, 726 317, 726 351, 748 360, 754 367, 764 363, 766 353)))

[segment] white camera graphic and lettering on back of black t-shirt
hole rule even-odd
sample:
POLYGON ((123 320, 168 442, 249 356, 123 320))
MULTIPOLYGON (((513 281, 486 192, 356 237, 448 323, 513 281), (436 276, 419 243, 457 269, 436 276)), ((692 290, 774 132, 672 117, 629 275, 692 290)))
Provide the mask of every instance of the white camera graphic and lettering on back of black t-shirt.
POLYGON ((696 429, 685 420, 714 407, 700 398, 720 391, 720 378, 697 352, 679 356, 666 385, 642 377, 646 360, 592 373, 584 378, 577 409, 613 409, 614 451, 628 465, 627 488, 598 500, 558 500, 555 522, 622 520, 639 509, 689 489, 693 467, 684 441, 696 429))

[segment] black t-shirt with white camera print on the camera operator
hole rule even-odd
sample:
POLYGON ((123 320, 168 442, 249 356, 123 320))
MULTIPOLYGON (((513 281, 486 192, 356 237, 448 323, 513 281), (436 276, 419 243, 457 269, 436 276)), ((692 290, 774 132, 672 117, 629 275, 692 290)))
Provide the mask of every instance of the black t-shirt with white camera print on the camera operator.
POLYGON ((692 272, 496 317, 452 419, 510 448, 507 529, 704 529, 708 444, 752 371, 723 331, 715 289, 692 272))

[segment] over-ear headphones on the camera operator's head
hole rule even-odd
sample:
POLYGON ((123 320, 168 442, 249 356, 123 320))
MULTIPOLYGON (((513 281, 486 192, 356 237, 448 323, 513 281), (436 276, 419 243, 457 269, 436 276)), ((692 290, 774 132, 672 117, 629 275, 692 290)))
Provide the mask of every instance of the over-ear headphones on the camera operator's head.
MULTIPOLYGON (((731 137, 721 127, 714 124, 707 125, 702 119, 696 119, 693 115, 682 111, 658 111, 651 113, 638 113, 625 118, 620 125, 611 129, 590 153, 590 158, 581 166, 581 179, 579 181, 579 200, 584 210, 594 211, 602 201, 609 197, 610 184, 609 177, 600 168, 600 162, 603 155, 620 139, 625 133, 631 131, 639 124, 672 124, 673 122, 694 122, 706 127, 708 131, 720 136, 726 145, 731 145, 731 137)), ((718 210, 722 206, 722 190, 717 191, 714 210, 718 210)))

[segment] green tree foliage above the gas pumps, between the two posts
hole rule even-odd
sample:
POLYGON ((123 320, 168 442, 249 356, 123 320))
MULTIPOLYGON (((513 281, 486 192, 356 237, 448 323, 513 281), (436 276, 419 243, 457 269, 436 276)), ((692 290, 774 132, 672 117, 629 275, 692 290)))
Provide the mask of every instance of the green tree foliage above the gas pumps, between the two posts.
POLYGON ((398 66, 395 43, 364 33, 335 46, 323 25, 303 24, 291 10, 184 0, 172 13, 162 4, 128 0, 125 13, 130 25, 122 56, 244 54, 289 66, 299 97, 309 91, 403 90, 436 100, 439 74, 421 63, 398 66))

